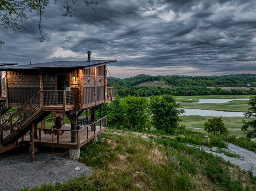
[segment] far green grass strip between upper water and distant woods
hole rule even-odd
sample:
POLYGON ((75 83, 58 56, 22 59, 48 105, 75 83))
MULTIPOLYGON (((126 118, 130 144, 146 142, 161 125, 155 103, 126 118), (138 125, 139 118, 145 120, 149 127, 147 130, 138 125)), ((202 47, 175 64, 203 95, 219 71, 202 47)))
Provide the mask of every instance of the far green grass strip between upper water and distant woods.
POLYGON ((173 96, 176 102, 198 102, 198 99, 250 98, 252 95, 207 95, 207 96, 173 96))

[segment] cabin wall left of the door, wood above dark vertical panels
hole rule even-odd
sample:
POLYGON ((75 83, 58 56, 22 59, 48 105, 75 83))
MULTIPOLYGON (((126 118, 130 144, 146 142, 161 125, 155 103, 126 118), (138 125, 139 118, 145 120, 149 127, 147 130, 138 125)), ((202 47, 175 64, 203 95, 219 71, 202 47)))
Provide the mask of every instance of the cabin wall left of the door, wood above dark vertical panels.
POLYGON ((39 72, 7 71, 9 104, 24 104, 40 91, 39 72))

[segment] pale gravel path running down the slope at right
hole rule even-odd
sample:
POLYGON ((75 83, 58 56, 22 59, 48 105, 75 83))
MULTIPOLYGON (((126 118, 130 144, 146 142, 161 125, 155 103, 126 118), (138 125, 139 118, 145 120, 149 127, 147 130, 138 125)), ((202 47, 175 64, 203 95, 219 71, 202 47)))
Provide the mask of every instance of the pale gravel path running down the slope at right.
POLYGON ((225 150, 233 154, 238 154, 241 157, 235 158, 235 157, 226 156, 223 153, 216 153, 213 150, 218 150, 218 148, 214 148, 214 147, 207 148, 204 146, 193 146, 190 144, 186 144, 186 145, 200 148, 205 152, 214 154, 215 156, 219 156, 223 158, 225 161, 230 161, 234 165, 239 166, 241 169, 244 169, 246 171, 252 171, 253 175, 256 176, 256 153, 231 143, 227 143, 227 144, 228 144, 228 149, 222 148, 222 150, 225 150))

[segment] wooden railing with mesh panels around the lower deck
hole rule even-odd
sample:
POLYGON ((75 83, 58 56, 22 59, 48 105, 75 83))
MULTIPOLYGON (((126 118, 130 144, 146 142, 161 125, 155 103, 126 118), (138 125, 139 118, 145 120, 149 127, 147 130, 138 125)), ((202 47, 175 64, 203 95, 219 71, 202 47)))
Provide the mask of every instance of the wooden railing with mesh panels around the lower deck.
MULTIPOLYGON (((34 143, 42 146, 58 146, 79 148, 106 130, 107 117, 97 116, 98 120, 80 127, 79 130, 56 128, 34 128, 34 143)), ((29 135, 24 135, 22 141, 29 142, 29 135)))

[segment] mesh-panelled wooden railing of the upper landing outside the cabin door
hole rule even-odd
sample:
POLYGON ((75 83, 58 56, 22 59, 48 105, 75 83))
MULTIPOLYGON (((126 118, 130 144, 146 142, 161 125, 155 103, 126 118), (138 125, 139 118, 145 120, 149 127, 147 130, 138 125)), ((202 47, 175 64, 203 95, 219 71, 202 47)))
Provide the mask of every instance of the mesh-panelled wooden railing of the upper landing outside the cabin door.
POLYGON ((42 106, 52 108, 67 108, 75 107, 75 91, 66 90, 46 90, 42 91, 42 106))

